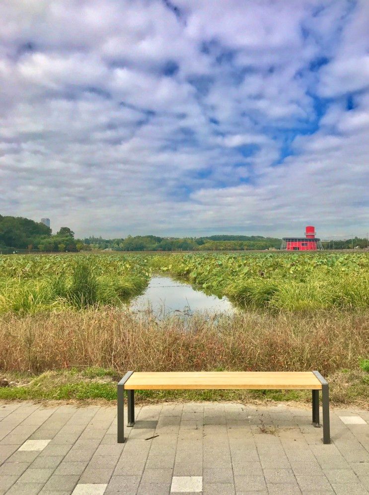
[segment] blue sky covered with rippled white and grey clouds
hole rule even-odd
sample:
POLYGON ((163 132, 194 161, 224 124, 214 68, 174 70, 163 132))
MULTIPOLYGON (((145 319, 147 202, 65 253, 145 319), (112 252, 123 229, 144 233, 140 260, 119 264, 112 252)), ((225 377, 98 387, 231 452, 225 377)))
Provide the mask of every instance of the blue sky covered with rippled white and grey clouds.
POLYGON ((369 230, 369 1, 1 0, 0 213, 369 230))

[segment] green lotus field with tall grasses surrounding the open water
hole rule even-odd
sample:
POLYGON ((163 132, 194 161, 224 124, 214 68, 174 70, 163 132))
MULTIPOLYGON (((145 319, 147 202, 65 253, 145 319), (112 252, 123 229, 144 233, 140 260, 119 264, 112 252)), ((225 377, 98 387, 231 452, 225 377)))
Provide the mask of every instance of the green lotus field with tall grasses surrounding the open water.
POLYGON ((369 306, 369 253, 0 256, 0 313, 124 305, 152 273, 226 295, 240 308, 369 306))

